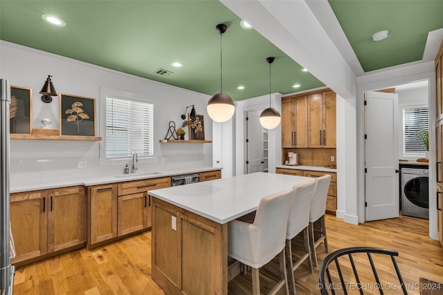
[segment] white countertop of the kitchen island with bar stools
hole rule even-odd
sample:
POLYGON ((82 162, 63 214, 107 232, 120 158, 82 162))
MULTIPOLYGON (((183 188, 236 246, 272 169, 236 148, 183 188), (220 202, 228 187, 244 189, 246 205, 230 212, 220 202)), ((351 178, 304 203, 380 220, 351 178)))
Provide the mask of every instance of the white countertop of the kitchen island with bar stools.
POLYGON ((264 196, 292 189, 312 178, 251 173, 148 191, 151 196, 224 224, 255 211, 264 196))

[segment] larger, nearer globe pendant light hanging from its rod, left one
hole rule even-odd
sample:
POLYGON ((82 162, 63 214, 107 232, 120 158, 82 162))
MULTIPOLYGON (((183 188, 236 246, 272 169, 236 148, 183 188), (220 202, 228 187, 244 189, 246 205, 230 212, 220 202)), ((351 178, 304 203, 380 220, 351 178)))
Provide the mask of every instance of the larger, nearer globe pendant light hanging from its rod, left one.
POLYGON ((217 32, 220 34, 220 93, 217 93, 216 95, 213 95, 208 101, 208 106, 206 106, 206 110, 208 111, 209 117, 214 120, 215 122, 226 122, 228 121, 233 115, 235 111, 235 104, 233 102, 233 99, 230 98, 229 95, 224 94, 223 91, 221 91, 222 86, 222 55, 221 55, 221 35, 226 32, 226 25, 223 23, 219 23, 217 26, 217 32))

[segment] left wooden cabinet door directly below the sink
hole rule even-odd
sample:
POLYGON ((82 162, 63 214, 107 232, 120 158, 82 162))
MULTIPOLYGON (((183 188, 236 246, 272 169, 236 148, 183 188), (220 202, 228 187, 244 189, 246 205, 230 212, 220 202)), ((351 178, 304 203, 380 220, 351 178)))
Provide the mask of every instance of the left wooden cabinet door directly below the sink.
POLYGON ((118 197, 118 236, 147 228, 147 193, 118 197))

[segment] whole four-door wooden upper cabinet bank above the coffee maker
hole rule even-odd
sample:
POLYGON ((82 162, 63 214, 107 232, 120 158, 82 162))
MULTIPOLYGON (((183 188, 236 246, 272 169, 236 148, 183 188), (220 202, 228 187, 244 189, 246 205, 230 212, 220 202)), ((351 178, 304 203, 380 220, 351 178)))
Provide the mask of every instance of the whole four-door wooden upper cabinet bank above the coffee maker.
POLYGON ((336 94, 330 89, 282 97, 282 148, 336 147, 336 94))

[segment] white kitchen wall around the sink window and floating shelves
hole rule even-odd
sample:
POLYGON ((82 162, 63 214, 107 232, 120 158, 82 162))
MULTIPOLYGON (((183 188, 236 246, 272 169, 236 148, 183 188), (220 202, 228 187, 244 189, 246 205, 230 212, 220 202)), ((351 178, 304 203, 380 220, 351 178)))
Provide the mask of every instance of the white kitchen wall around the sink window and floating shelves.
MULTIPOLYGON (((206 140, 213 138, 212 120, 206 113, 208 95, 183 88, 143 79, 115 70, 68 59, 40 50, 0 42, 0 77, 11 85, 33 89, 33 128, 41 128, 41 120, 48 117, 56 129, 59 122, 59 101, 45 104, 39 91, 47 75, 53 75, 57 93, 81 95, 96 99, 96 135, 100 134, 100 88, 134 93, 154 102, 154 158, 141 159, 139 169, 150 171, 180 166, 212 166, 212 144, 159 143, 168 131, 168 122, 174 121, 177 129, 182 124, 180 115, 186 106, 195 104, 198 114, 205 115, 206 140)), ((190 111, 190 110, 188 110, 190 111)), ((103 142, 103 141, 102 141, 103 142)), ((29 184, 56 179, 69 179, 121 173, 125 161, 100 164, 100 142, 11 140, 11 185, 26 180, 29 184), (79 160, 87 160, 88 169, 77 169, 79 160)))

